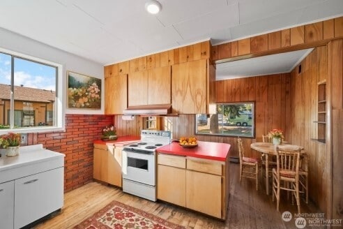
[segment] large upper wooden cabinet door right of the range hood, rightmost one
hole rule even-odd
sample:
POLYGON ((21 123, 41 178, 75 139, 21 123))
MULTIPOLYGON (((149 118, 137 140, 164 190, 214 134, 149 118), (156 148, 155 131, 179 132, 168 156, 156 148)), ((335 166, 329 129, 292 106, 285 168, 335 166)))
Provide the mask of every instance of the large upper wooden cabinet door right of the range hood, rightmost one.
POLYGON ((172 106, 178 114, 206 113, 207 60, 175 64, 172 71, 172 106))

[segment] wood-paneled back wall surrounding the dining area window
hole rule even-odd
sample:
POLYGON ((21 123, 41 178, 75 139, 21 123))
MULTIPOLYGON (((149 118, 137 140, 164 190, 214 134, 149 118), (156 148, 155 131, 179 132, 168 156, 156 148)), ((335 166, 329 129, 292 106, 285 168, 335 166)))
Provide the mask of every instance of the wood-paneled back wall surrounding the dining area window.
MULTIPOLYGON (((252 152, 250 144, 261 142, 262 135, 273 128, 286 131, 289 120, 290 74, 264 75, 216 82, 217 103, 255 101, 255 137, 243 138, 247 156, 260 156, 252 152)), ((172 117, 173 138, 195 135, 195 115, 185 114, 172 117)), ((197 135, 199 140, 209 142, 225 142, 231 144, 231 156, 238 156, 237 138, 222 136, 197 135)))

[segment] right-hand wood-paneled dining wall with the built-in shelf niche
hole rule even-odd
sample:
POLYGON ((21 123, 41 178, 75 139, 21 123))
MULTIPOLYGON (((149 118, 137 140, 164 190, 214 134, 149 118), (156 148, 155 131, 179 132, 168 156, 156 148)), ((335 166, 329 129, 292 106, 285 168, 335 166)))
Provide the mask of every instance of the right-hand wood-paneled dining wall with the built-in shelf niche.
POLYGON ((326 144, 312 139, 318 137, 318 124, 314 123, 318 119, 317 90, 318 82, 328 79, 327 55, 326 45, 317 47, 301 62, 300 73, 300 65, 291 71, 291 112, 287 125, 287 139, 303 146, 309 155, 309 195, 323 212, 328 197, 326 144))

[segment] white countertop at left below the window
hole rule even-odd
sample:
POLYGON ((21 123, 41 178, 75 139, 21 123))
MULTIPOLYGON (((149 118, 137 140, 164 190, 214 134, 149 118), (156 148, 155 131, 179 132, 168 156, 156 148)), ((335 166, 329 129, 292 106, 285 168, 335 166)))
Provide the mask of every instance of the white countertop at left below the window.
POLYGON ((42 144, 24 146, 20 147, 18 156, 2 155, 0 157, 0 172, 64 156, 59 152, 44 149, 42 144))

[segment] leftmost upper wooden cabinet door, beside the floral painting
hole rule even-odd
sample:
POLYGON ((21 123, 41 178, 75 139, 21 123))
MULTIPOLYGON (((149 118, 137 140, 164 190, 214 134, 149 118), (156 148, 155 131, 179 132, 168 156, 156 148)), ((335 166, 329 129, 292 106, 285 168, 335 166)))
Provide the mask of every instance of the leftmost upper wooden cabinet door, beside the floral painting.
POLYGON ((128 75, 105 78, 105 114, 123 114, 128 108, 128 75))

